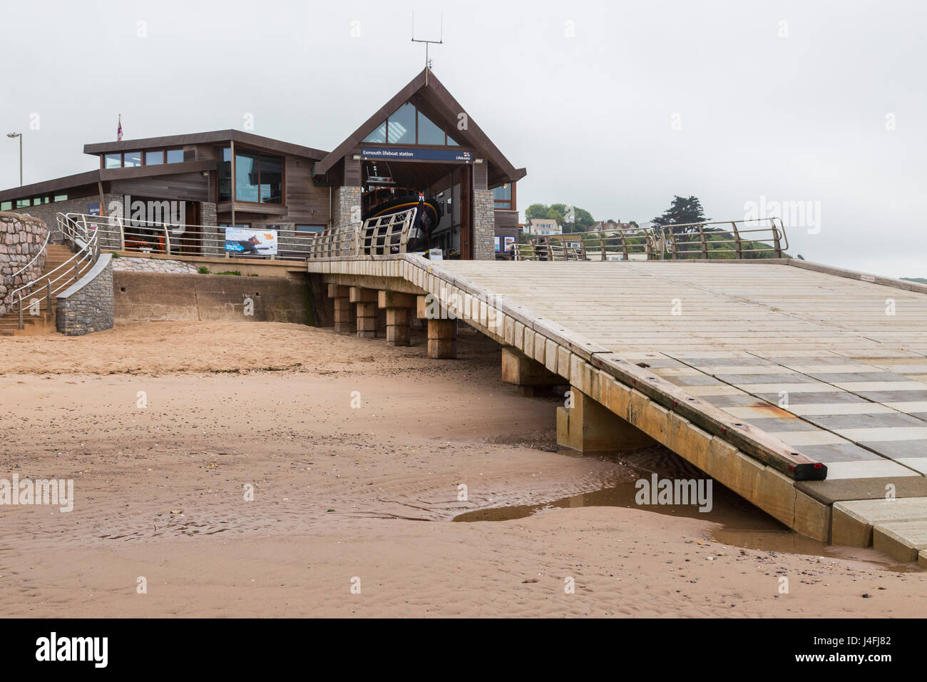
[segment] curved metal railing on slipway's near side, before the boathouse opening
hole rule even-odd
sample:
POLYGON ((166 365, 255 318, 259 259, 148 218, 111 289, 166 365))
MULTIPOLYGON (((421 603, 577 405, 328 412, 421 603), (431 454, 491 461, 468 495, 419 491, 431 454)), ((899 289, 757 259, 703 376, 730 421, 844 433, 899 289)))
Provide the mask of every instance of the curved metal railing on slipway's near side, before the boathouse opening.
POLYGON ((308 258, 384 256, 405 253, 415 209, 369 218, 362 223, 326 227, 313 235, 308 258))

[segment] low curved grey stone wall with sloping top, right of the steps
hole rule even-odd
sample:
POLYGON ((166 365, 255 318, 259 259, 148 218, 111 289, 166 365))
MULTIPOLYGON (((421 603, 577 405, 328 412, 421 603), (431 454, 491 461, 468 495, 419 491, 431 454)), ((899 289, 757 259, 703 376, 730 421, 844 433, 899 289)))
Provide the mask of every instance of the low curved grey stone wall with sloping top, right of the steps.
POLYGON ((66 336, 83 336, 113 326, 112 255, 100 256, 80 281, 57 295, 57 330, 66 336))

